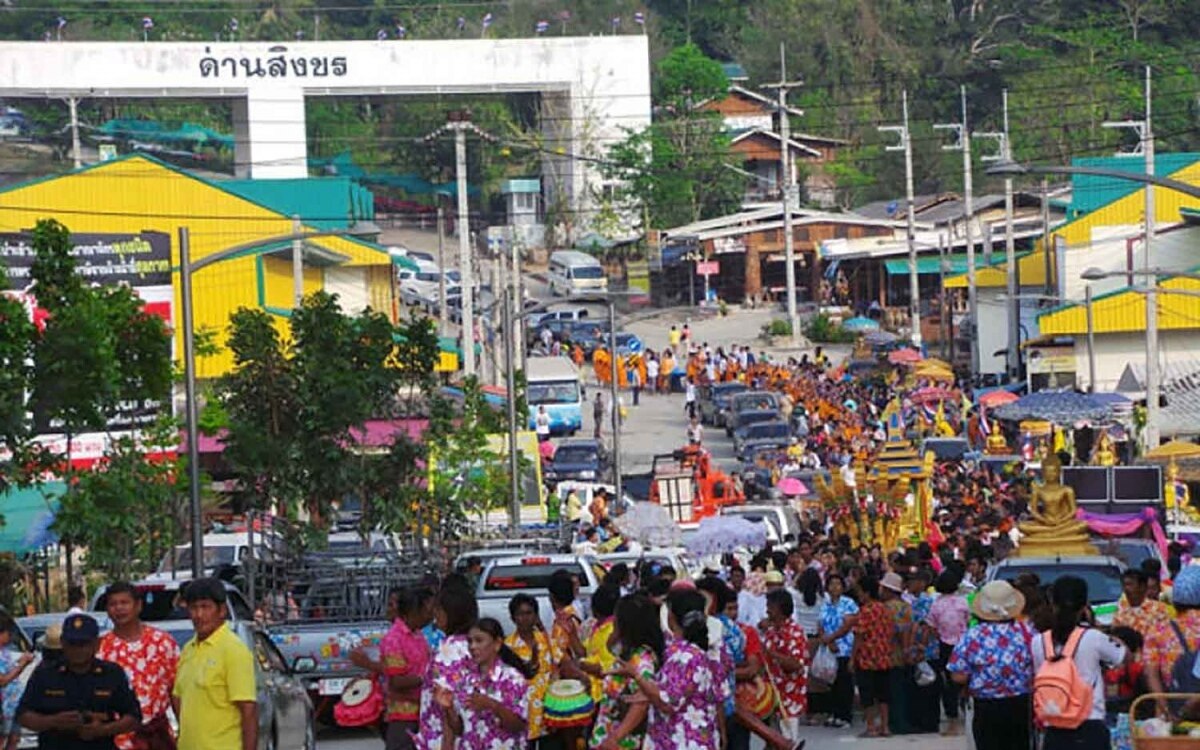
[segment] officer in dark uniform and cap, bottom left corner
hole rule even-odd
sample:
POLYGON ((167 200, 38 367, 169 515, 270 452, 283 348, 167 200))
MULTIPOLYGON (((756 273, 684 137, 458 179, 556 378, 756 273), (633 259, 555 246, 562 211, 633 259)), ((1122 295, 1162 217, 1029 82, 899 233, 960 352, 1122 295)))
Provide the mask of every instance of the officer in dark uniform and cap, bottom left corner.
POLYGON ((17 707, 41 750, 115 750, 113 737, 142 722, 125 670, 96 659, 100 626, 86 614, 62 623, 62 662, 37 670, 17 707))

